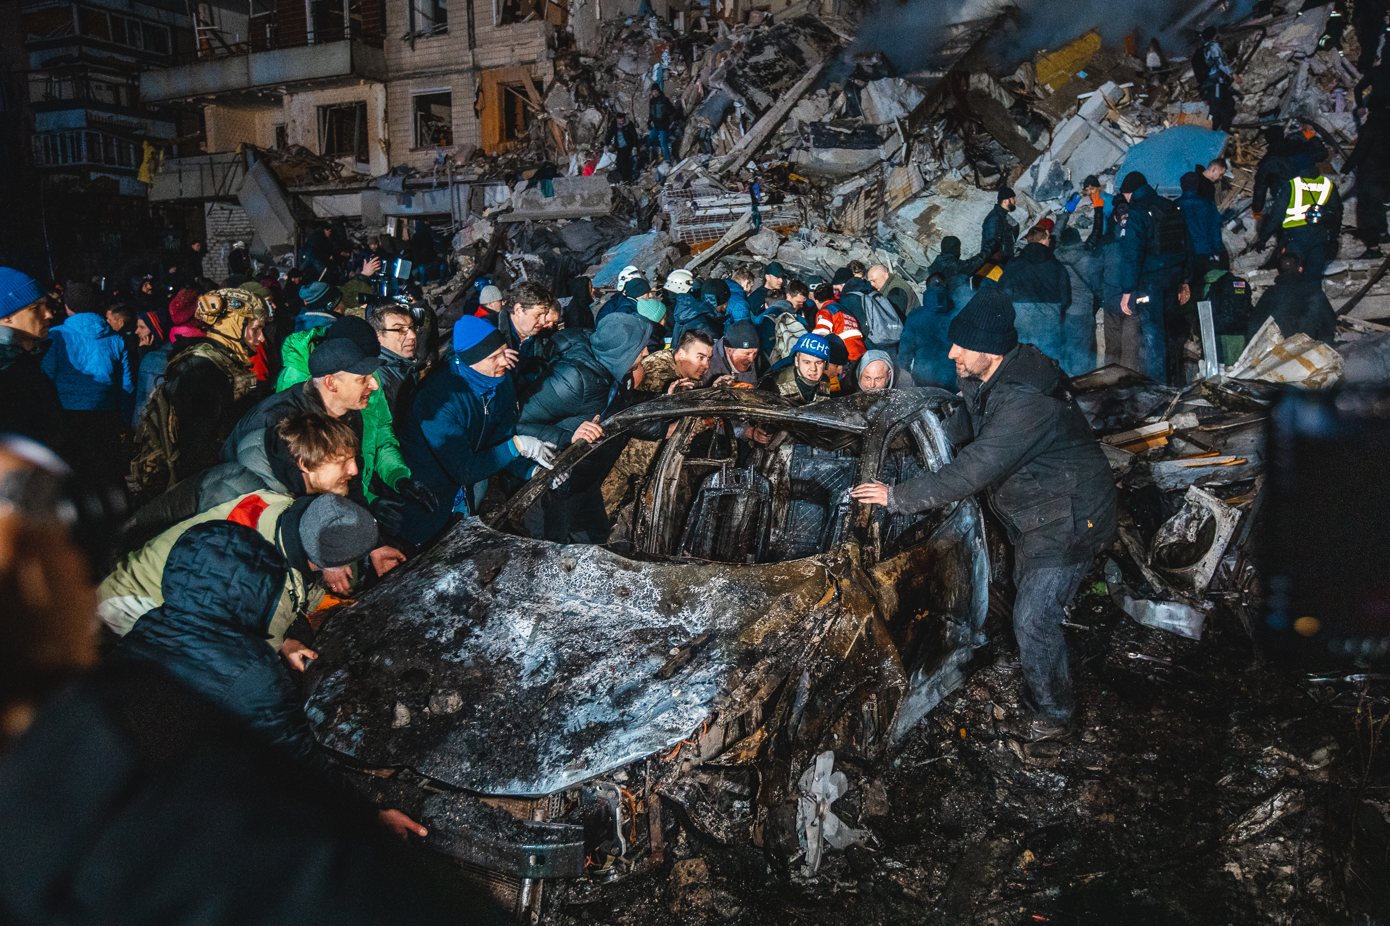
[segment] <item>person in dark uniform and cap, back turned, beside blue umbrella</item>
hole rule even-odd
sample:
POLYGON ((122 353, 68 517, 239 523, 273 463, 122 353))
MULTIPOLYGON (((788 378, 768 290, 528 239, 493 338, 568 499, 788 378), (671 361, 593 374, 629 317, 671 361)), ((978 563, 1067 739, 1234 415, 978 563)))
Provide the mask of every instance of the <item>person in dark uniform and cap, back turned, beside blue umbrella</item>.
MULTIPOLYGON (((1138 171, 1125 178, 1120 196, 1129 201, 1129 211, 1115 230, 1120 312, 1140 322, 1143 369, 1138 372, 1163 382, 1168 376, 1168 319, 1190 296, 1187 219, 1177 204, 1155 193, 1138 171)), ((1175 360, 1180 364, 1182 355, 1175 360)))

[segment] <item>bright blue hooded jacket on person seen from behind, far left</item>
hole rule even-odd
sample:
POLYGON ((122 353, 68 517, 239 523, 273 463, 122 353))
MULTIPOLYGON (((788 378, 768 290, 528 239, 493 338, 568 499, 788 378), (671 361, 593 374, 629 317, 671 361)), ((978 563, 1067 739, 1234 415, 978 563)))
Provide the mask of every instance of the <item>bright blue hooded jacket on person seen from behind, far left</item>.
POLYGON ((135 404, 135 372, 125 342, 96 312, 78 312, 49 332, 43 372, 68 411, 124 411, 135 404))

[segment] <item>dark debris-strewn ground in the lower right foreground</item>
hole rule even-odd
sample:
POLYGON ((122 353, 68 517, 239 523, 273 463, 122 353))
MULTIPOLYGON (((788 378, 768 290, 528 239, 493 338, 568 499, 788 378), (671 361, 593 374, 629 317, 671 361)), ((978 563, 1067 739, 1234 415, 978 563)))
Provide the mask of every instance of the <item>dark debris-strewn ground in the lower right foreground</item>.
POLYGON ((1009 736, 1020 677, 1001 647, 884 768, 852 772, 835 808, 870 845, 787 880, 682 829, 663 868, 567 891, 556 922, 1379 922, 1384 682, 1362 697, 1362 679, 1284 675, 1229 611, 1183 640, 1119 612, 1099 571, 1087 586, 1076 743, 1009 736))

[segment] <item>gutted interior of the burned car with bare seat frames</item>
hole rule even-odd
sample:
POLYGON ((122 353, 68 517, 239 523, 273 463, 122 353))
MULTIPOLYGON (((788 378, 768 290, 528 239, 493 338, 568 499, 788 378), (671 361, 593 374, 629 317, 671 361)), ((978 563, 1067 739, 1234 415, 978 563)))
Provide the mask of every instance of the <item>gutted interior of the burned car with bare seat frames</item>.
MULTIPOLYGON (((935 411, 922 407, 887 429, 873 466, 860 430, 810 422, 685 415, 662 441, 634 511, 620 516, 606 547, 628 558, 767 564, 838 546, 853 530, 849 487, 873 471, 897 485, 935 468, 949 450, 935 411), (931 419, 931 421, 927 421, 931 419), (753 426, 770 435, 748 440, 753 426), (933 436, 941 435, 933 444, 933 436)), ((945 512, 869 519, 881 554, 930 534, 945 512)), ((518 521, 507 528, 524 533, 518 521)))

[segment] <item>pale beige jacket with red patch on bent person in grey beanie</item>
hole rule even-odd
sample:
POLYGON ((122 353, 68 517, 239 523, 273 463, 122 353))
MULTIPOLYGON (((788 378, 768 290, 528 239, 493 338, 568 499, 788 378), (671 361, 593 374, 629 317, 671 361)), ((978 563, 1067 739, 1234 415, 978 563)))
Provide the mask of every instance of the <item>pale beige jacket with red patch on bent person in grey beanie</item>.
MULTIPOLYGON (((309 578, 303 546, 299 540, 299 515, 314 496, 291 498, 267 490, 232 498, 164 530, 153 540, 126 554, 97 586, 97 616, 117 636, 139 626, 154 608, 164 604, 170 586, 168 561, 179 539, 190 529, 213 522, 232 522, 257 532, 289 564, 281 576, 272 611, 259 637, 278 650, 285 633, 297 619, 324 600, 324 589, 309 578)), ((264 647, 265 643, 261 643, 264 647)))

